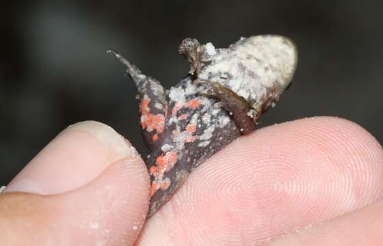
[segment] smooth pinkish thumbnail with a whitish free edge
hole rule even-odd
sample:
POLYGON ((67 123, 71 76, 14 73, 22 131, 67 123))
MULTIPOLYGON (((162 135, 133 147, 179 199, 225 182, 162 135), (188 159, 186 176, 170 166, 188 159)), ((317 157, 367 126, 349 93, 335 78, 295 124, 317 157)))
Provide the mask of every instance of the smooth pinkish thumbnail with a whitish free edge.
POLYGON ((5 192, 55 194, 90 182, 114 161, 131 156, 131 144, 106 124, 68 126, 10 182, 5 192))

